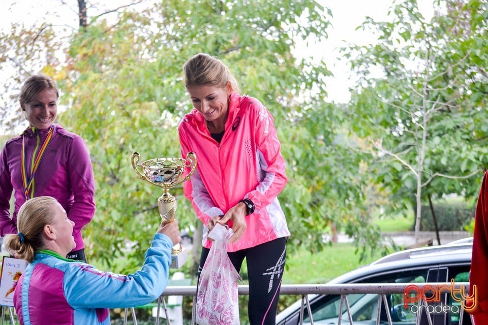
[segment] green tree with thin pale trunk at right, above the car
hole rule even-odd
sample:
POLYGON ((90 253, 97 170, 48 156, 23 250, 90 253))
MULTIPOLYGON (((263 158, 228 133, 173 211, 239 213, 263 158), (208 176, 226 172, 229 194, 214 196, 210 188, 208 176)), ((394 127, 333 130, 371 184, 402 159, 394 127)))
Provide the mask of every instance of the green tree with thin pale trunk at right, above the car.
POLYGON ((375 182, 393 206, 412 196, 418 238, 421 202, 475 195, 487 163, 486 1, 436 1, 427 21, 415 0, 397 2, 392 21, 362 28, 377 44, 343 49, 361 77, 350 103, 351 131, 366 139, 375 182), (473 177, 476 176, 476 177, 473 177))

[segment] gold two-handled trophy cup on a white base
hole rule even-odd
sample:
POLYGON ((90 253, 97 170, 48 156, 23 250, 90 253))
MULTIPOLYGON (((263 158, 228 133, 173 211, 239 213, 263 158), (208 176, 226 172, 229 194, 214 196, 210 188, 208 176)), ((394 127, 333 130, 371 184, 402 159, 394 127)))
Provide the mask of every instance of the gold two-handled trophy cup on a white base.
MULTIPOLYGON (((132 154, 132 168, 142 180, 163 187, 164 193, 158 199, 159 215, 163 220, 163 224, 173 222, 176 215, 176 199, 169 193, 169 189, 190 179, 197 166, 197 157, 193 152, 189 152, 186 159, 175 157, 154 158, 143 163, 139 163, 139 160, 141 160, 139 152, 134 152, 132 154), (138 167, 142 169, 142 173, 138 167), (182 178, 185 168, 190 168, 190 172, 186 177, 182 178)), ((187 259, 186 249, 182 248, 180 244, 176 244, 171 249, 170 268, 179 269, 185 264, 187 259)))

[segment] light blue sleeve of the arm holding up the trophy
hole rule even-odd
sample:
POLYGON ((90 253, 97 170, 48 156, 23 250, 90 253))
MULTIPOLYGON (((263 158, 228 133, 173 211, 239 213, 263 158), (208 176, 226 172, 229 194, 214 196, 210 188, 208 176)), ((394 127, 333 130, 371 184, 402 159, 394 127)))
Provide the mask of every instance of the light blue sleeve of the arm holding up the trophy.
POLYGON ((63 279, 67 302, 73 308, 125 308, 158 299, 169 278, 172 241, 155 234, 141 270, 121 275, 83 263, 69 263, 63 279))

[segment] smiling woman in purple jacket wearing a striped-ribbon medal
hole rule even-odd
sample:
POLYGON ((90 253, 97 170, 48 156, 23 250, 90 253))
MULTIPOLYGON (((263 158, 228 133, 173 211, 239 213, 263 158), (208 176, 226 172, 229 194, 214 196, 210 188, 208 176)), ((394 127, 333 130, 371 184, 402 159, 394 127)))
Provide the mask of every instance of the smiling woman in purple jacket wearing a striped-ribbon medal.
POLYGON ((44 74, 29 77, 22 86, 20 107, 29 126, 0 153, 0 236, 17 234, 17 213, 25 201, 48 195, 75 222, 76 247, 67 257, 86 262, 81 230, 95 214, 95 180, 83 139, 54 124, 58 97, 56 84, 44 74))

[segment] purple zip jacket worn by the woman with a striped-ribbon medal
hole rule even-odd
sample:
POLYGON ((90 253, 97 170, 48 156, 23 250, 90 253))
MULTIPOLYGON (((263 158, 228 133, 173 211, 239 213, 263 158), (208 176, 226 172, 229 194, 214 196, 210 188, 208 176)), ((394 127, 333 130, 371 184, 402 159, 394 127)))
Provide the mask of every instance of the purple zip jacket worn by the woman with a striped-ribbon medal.
MULTIPOLYGON (((95 180, 92 162, 83 139, 55 124, 54 134, 34 177, 34 197, 55 198, 75 223, 73 236, 76 247, 84 248, 81 229, 95 214, 95 180)), ((27 179, 31 177, 34 150, 46 139, 49 129, 27 128, 19 137, 10 139, 0 153, 0 236, 17 234, 17 212, 25 202, 22 184, 21 149, 25 138, 27 179), (10 198, 15 190, 15 209, 10 215, 10 198)))

